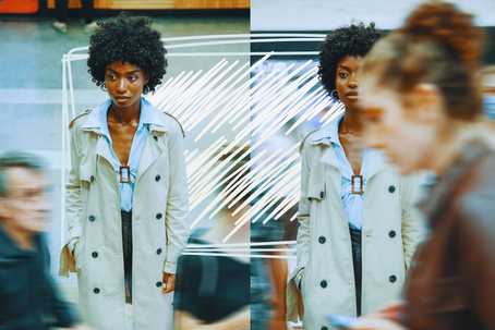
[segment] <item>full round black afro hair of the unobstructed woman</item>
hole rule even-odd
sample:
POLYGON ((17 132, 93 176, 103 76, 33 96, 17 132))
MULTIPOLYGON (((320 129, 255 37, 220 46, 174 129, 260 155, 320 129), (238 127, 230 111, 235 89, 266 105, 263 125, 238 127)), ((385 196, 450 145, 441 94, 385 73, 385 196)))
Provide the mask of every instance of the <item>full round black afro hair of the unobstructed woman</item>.
POLYGON ((143 93, 155 91, 166 73, 167 50, 160 34, 150 27, 147 17, 120 14, 98 22, 98 28, 89 38, 88 73, 97 86, 105 84, 105 69, 121 61, 142 69, 148 77, 143 93))

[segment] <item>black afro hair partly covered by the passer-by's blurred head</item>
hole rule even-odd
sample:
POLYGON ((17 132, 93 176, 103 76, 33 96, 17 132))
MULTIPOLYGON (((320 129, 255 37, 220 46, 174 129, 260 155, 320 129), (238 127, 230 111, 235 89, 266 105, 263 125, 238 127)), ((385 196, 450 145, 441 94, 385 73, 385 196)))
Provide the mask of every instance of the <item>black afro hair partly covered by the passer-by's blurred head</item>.
POLYGON ((382 33, 375 24, 351 24, 330 32, 319 51, 318 75, 328 93, 335 89, 337 64, 347 56, 364 57, 373 47, 382 33))

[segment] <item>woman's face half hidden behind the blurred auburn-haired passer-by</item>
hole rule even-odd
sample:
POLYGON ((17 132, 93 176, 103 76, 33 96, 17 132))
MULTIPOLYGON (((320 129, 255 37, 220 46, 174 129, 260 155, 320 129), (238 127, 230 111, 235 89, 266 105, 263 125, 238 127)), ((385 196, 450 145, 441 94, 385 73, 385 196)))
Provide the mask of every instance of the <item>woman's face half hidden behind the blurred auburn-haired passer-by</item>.
POLYGON ((362 61, 362 57, 347 56, 337 63, 335 89, 347 109, 353 108, 358 102, 357 75, 362 61))

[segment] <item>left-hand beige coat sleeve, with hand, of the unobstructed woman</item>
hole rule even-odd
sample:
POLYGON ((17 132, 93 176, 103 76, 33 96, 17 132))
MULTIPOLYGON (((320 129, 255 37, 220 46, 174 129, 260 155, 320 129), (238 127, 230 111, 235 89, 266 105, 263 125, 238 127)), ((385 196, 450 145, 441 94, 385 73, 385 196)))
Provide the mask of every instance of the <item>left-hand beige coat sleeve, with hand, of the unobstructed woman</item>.
MULTIPOLYGON (((71 168, 65 183, 65 223, 67 235, 60 255, 61 276, 69 276, 69 271, 75 271, 75 261, 72 256, 72 247, 82 234, 82 200, 80 180, 80 143, 76 134, 77 127, 70 129, 71 136, 71 168)), ((64 169, 63 169, 64 170, 64 169)))

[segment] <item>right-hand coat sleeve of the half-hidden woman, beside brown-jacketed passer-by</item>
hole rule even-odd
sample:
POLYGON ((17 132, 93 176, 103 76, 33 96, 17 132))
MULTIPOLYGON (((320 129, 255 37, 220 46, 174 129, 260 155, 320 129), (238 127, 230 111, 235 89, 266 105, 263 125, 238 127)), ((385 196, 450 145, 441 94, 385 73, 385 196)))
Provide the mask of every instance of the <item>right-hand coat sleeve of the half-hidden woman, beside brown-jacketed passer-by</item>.
POLYGON ((400 203, 402 208, 402 246, 406 268, 409 268, 418 245, 426 234, 426 222, 418 209, 421 197, 421 184, 423 175, 410 175, 402 178, 400 203))

